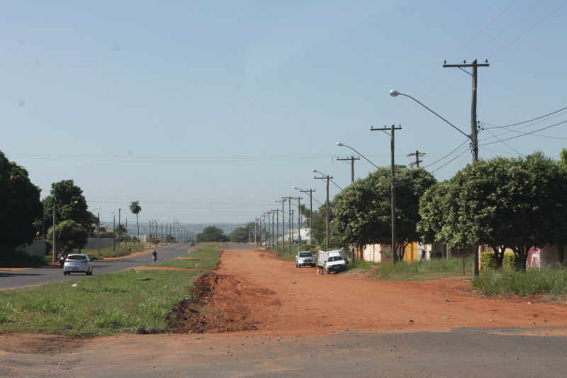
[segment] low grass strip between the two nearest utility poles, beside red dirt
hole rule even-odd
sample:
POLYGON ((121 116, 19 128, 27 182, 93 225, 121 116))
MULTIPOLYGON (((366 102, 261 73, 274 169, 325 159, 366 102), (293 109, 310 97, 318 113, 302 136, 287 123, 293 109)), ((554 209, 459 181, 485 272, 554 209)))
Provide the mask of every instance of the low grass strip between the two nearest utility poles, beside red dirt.
MULTIPOLYGON (((466 257, 465 274, 473 274, 472 257, 466 257)), ((376 269, 375 277, 389 279, 391 281, 406 281, 414 279, 424 281, 426 279, 439 279, 444 277, 463 275, 463 257, 447 259, 432 259, 416 262, 385 262, 376 269)))

